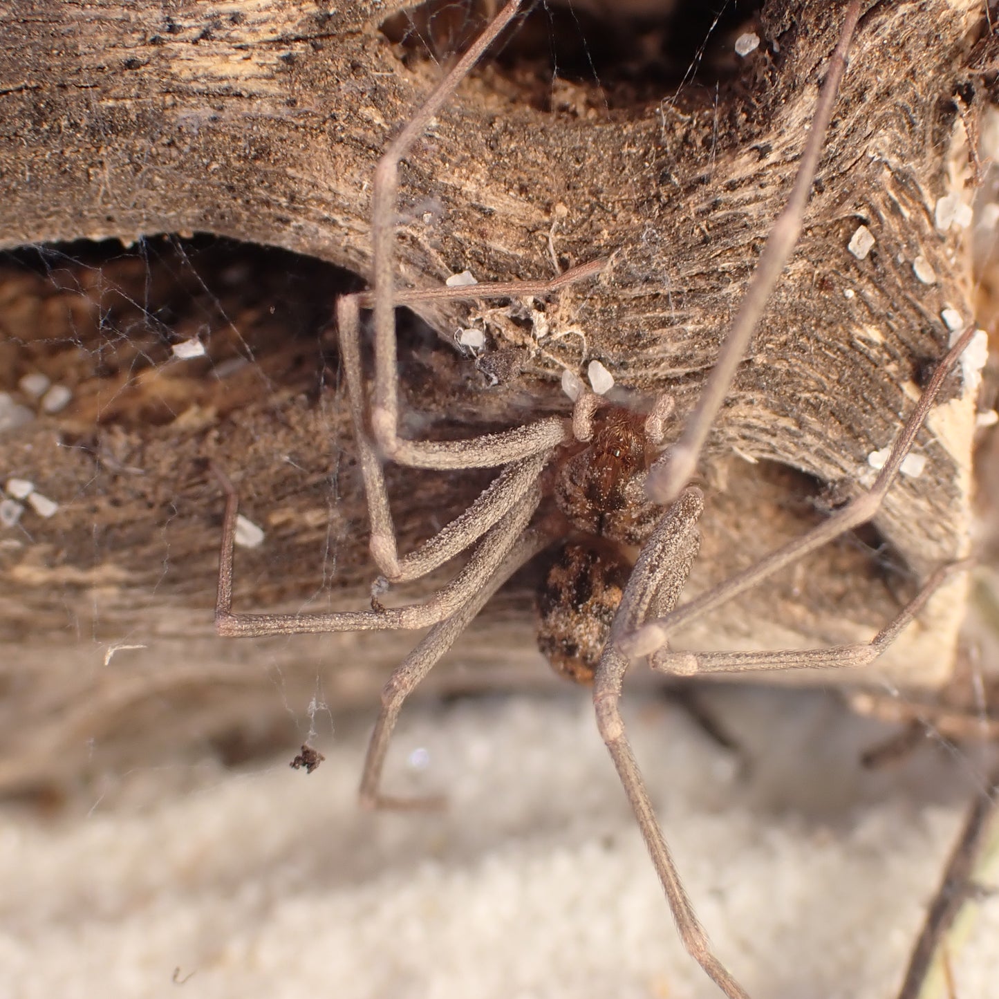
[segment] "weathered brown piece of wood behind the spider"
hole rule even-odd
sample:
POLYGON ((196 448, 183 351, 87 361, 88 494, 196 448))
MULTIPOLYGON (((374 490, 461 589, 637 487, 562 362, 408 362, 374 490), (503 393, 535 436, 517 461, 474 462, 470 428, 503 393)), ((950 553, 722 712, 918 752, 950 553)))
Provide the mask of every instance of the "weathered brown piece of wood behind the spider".
MULTIPOLYGON (((400 284, 466 269, 480 280, 548 277, 555 264, 601 255, 611 263, 546 304, 423 310, 442 340, 403 334, 405 431, 465 436, 567 412, 560 370, 582 374, 591 359, 638 394, 670 388, 682 420, 786 198, 839 11, 766 5, 758 30, 776 45, 764 42, 717 89, 663 87, 650 100, 647 87, 611 87, 605 101, 582 83, 538 84, 534 62, 512 59, 467 81, 403 171, 400 284), (475 322, 499 385, 448 346, 475 322)), ((354 278, 251 251, 227 271, 218 247, 177 254, 159 244, 153 256, 167 258, 168 272, 170 260, 189 267, 180 291, 148 248, 111 276, 77 249, 47 258, 46 280, 7 272, 0 292, 15 311, 0 321, 0 389, 24 404, 18 380, 41 371, 74 398, 0 437, 3 474, 60 504, 50 519, 26 511, 0 548, 9 712, 0 785, 53 772, 87 738, 117 745, 135 725, 148 739, 149 719, 173 724, 182 702, 178 741, 280 727, 275 676, 300 717, 320 677, 340 710, 377 690, 413 643, 405 634, 212 638, 222 500, 203 461, 229 471, 267 532, 262 548, 239 555, 237 609, 364 605, 375 569, 336 340, 324 327, 335 293, 371 271, 378 156, 440 72, 379 33, 386 14, 365 2, 329 11, 187 2, 168 13, 22 0, 8 15, 0 245, 207 232, 354 278), (294 277, 281 280, 286 268, 294 277), (182 313, 192 299, 179 329, 164 322, 161 309, 182 313), (172 361, 171 345, 195 335, 208 359, 172 361), (239 356, 250 364, 215 377, 239 356), (103 666, 116 643, 146 648, 103 666), (220 710, 219 691, 234 688, 250 694, 222 697, 220 710)), ((868 456, 891 443, 946 348, 942 311, 971 317, 962 234, 938 231, 935 209, 945 196, 970 201, 969 148, 994 58, 987 31, 970 0, 883 2, 861 21, 802 238, 711 438, 691 592, 815 522, 814 480, 870 476, 868 456), (875 243, 858 259, 848 245, 861 225, 875 243), (915 273, 920 259, 931 284, 915 273)), ((967 548, 974 408, 974 393, 952 379, 917 445, 925 470, 903 477, 876 521, 889 560, 913 575, 967 548)), ((403 549, 487 481, 393 469, 403 549)), ((445 682, 543 668, 531 585, 527 573, 463 642, 466 661, 495 672, 445 682)), ((940 594, 878 663, 879 677, 932 686, 947 676, 964 588, 957 579, 940 594)), ((911 591, 905 572, 886 572, 847 541, 677 644, 858 640, 911 591)))

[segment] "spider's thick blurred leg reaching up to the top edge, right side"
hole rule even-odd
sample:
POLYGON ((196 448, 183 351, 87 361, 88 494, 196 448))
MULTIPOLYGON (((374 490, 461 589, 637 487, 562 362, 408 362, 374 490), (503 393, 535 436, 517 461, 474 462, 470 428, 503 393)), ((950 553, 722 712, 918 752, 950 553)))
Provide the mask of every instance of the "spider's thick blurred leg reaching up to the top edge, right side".
POLYGON ((770 230, 739 311, 728 329, 718 360, 701 391, 697 407, 690 415, 683 436, 671 449, 669 461, 657 470, 654 476, 649 476, 645 488, 651 500, 660 503, 672 502, 690 482, 708 432, 731 388, 735 369, 745 357, 749 339, 784 270, 787 258, 798 241, 805 205, 808 203, 826 129, 839 92, 839 82, 846 69, 846 55, 859 18, 860 0, 852 0, 846 12, 839 42, 829 60, 829 68, 826 70, 825 82, 822 84, 815 105, 815 114, 808 130, 808 140, 801 154, 801 164, 794 180, 794 187, 791 189, 791 196, 770 230))

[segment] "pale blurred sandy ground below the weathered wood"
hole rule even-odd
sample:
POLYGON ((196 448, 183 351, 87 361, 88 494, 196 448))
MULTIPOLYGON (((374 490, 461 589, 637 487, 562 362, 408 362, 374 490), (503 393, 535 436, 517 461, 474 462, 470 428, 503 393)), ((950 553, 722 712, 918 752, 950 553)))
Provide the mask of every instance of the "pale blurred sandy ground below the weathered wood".
MULTIPOLYGON (((687 888, 754 999, 892 997, 982 760, 885 733, 831 696, 710 692, 733 753, 661 698, 635 749, 687 888)), ((57 819, 0 815, 0 996, 708 999, 682 952, 585 694, 404 714, 390 781, 430 814, 356 805, 367 725, 294 771, 121 773, 57 819)), ((999 994, 999 898, 955 955, 999 994)))

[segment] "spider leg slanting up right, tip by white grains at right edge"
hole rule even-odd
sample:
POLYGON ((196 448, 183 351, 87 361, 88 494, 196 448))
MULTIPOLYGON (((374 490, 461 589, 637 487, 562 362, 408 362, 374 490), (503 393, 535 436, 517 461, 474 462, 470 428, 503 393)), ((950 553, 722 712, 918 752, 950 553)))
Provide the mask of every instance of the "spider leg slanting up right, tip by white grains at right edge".
POLYGON ((887 462, 874 480, 874 485, 866 493, 861 494, 854 500, 850 500, 842 509, 837 510, 828 519, 811 530, 806 531, 800 537, 789 541, 782 547, 777 548, 770 554, 761 558, 755 565, 744 569, 735 575, 729 576, 724 582, 709 589, 706 593, 689 600, 687 603, 664 614, 655 620, 646 621, 636 628, 631 634, 622 636, 620 640, 621 651, 628 656, 647 655, 649 652, 664 645, 669 632, 685 624, 701 614, 713 610, 715 607, 726 603, 733 596, 755 585, 767 576, 772 575, 778 569, 797 561, 810 551, 821 547, 833 538, 847 530, 852 530, 862 523, 866 523, 878 511, 885 498, 891 484, 894 482, 898 469, 905 456, 912 447, 919 429, 926 420, 933 401, 943 385, 944 379, 957 363, 961 352, 970 343, 974 336, 974 329, 969 327, 957 339, 954 346, 947 352, 944 359, 937 366, 933 377, 923 391, 919 403, 912 411, 909 419, 905 422, 901 433, 892 445, 891 453, 887 462))

